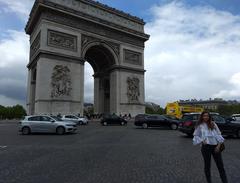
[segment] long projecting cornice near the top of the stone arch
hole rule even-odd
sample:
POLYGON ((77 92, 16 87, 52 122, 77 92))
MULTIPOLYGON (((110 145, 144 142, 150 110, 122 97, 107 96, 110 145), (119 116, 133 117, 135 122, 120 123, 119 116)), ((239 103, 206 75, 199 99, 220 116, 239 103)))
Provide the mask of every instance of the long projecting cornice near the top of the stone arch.
MULTIPOLYGON (((123 25, 121 25, 117 22, 108 21, 108 20, 102 19, 101 17, 98 18, 97 16, 92 16, 91 14, 86 14, 85 12, 76 11, 76 10, 71 9, 69 7, 64 7, 60 4, 55 4, 51 1, 56 1, 56 0, 38 0, 38 1, 35 2, 34 6, 33 6, 33 9, 30 13, 28 23, 27 23, 26 28, 25 28, 25 31, 26 31, 27 34, 31 34, 32 30, 34 29, 34 25, 37 23, 37 20, 40 16, 40 10, 47 9, 47 10, 51 10, 51 11, 57 11, 57 12, 65 13, 65 14, 68 14, 68 15, 71 15, 71 16, 74 16, 74 17, 78 17, 80 19, 85 19, 87 21, 93 21, 93 22, 98 23, 100 25, 107 26, 107 27, 110 27, 110 28, 114 28, 118 31, 126 32, 128 34, 132 34, 133 36, 141 37, 145 41, 147 41, 149 39, 149 35, 145 34, 144 30, 136 30, 134 27, 130 28, 128 26, 123 26, 123 25)), ((76 0, 71 0, 71 2, 72 1, 76 1, 76 0)), ((81 1, 83 1, 83 0, 81 0, 81 1)), ((94 3, 96 3, 96 2, 94 2, 94 3)), ((144 22, 142 22, 142 24, 144 25, 144 22)))

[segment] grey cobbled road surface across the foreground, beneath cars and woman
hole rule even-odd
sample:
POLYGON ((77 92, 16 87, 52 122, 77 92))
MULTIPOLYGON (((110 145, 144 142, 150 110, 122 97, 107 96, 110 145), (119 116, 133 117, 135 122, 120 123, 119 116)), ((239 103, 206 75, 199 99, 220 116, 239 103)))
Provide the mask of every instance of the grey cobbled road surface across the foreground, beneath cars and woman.
MULTIPOLYGON (((205 182, 200 147, 178 131, 98 123, 63 136, 17 129, 0 124, 0 183, 205 182)), ((226 140, 223 159, 229 182, 240 183, 240 139, 226 140)))

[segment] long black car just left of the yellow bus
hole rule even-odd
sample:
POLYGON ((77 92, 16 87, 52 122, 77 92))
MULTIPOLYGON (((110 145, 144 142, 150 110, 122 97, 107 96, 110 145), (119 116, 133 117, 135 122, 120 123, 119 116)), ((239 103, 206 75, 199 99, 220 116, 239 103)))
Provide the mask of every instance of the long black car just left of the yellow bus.
POLYGON ((141 114, 135 117, 134 124, 143 128, 148 127, 168 127, 173 130, 178 128, 178 120, 167 118, 164 115, 146 115, 141 114))

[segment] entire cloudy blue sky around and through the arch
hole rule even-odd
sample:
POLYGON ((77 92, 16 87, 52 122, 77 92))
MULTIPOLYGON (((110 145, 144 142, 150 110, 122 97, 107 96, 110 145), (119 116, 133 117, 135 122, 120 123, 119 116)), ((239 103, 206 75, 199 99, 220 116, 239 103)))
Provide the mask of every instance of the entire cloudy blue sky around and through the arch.
MULTIPOLYGON (((146 101, 240 100, 238 0, 100 0, 146 21, 146 101), (131 3, 129 3, 131 2, 131 3)), ((0 0, 0 105, 25 105, 33 0, 0 0)), ((92 68, 85 99, 93 100, 92 68)))

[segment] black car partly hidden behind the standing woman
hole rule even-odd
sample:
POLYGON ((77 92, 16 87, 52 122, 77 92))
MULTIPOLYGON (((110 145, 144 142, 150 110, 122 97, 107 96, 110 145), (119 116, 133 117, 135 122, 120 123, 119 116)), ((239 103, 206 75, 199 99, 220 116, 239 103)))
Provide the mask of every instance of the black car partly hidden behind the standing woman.
MULTIPOLYGON (((220 116, 218 113, 210 113, 213 121, 218 125, 223 135, 233 135, 240 137, 240 123, 236 123, 230 118, 220 116)), ((181 122, 179 123, 179 131, 192 136, 195 125, 198 121, 200 113, 184 114, 181 122)))

